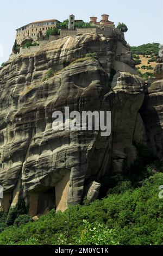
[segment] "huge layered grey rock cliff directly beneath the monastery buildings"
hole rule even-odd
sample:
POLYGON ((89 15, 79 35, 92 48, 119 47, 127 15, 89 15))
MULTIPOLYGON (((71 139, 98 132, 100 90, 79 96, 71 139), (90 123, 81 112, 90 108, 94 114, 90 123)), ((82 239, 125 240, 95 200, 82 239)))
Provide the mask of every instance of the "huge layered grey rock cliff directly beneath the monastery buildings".
MULTIPOLYGON (((52 208, 65 210, 82 203, 89 184, 96 187, 89 190, 96 198, 102 176, 119 175, 125 159, 134 161, 144 93, 129 56, 126 41, 116 35, 77 35, 19 55, 0 70, 3 210, 19 198, 32 217, 52 208), (122 49, 123 62, 117 60, 122 49), (83 58, 93 52, 98 60, 83 58), (64 68, 65 63, 70 65, 64 68), (54 75, 45 80, 49 69, 54 75), (111 135, 53 130, 52 114, 65 106, 80 113, 111 111, 111 135)), ((155 86, 159 90, 160 82, 155 86)))

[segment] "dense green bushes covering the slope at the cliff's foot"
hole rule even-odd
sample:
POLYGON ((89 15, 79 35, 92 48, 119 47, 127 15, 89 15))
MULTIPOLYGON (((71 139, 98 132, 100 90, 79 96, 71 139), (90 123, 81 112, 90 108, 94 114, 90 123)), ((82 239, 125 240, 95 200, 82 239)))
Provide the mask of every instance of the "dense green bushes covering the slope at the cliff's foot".
POLYGON ((161 163, 144 145, 135 147, 135 163, 123 167, 126 180, 102 200, 52 210, 35 222, 23 201, 9 214, 1 212, 0 245, 163 245, 161 163))

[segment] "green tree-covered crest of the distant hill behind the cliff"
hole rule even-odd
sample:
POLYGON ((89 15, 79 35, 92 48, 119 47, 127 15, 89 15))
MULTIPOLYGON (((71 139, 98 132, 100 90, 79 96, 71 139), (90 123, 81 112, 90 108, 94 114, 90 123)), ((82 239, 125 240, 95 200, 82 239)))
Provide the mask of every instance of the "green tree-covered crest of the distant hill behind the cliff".
POLYGON ((153 44, 144 44, 140 46, 131 46, 131 52, 133 54, 155 54, 155 56, 158 56, 159 53, 159 43, 153 42, 153 44))

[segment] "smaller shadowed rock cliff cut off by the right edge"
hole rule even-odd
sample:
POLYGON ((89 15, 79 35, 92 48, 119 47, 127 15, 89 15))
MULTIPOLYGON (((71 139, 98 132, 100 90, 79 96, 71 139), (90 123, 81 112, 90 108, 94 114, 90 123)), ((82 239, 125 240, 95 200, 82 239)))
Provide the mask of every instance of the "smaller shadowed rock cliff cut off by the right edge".
POLYGON ((141 116, 145 124, 147 143, 153 152, 163 160, 163 57, 158 59, 154 69, 156 80, 146 90, 141 116))

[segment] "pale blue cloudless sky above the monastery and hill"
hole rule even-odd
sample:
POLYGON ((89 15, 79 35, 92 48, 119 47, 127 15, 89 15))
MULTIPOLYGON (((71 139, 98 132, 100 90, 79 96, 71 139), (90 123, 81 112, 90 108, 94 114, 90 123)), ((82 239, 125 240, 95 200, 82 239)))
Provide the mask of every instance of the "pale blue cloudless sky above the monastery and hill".
POLYGON ((37 20, 65 20, 69 14, 89 21, 90 16, 126 23, 126 40, 131 46, 160 42, 163 44, 163 0, 4 0, 0 16, 0 64, 9 58, 15 29, 37 20), (3 56, 1 56, 3 46, 3 56))

